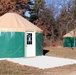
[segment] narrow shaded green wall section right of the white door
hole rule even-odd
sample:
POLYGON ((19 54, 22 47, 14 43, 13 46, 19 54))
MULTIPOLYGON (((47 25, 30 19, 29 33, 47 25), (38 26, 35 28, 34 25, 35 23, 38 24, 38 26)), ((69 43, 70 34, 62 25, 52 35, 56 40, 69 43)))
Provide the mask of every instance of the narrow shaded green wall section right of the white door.
POLYGON ((36 33, 36 56, 43 54, 43 39, 42 39, 42 33, 36 33))

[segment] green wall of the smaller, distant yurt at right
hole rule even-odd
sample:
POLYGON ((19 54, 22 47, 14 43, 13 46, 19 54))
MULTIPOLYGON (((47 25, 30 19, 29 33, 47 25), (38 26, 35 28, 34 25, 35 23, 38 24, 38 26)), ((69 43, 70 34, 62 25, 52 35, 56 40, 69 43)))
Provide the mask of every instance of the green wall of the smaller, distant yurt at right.
POLYGON ((74 47, 74 40, 75 40, 75 47, 76 47, 76 39, 74 37, 65 37, 64 47, 74 47))

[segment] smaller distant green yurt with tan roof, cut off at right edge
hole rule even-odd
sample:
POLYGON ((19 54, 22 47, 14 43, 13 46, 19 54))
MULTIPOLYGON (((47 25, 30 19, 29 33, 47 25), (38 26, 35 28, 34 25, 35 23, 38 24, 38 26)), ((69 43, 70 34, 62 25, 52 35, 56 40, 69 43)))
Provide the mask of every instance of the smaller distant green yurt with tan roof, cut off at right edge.
POLYGON ((64 47, 76 47, 76 30, 70 31, 63 36, 64 47))

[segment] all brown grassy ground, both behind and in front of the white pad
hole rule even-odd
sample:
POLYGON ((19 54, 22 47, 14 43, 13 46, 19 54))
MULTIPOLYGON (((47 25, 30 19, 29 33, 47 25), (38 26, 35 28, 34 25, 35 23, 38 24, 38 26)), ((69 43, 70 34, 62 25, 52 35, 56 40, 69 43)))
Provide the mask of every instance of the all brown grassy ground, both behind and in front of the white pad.
MULTIPOLYGON (((76 49, 45 47, 43 52, 45 56, 76 59, 76 49)), ((22 66, 7 60, 1 60, 0 75, 76 75, 76 64, 49 69, 39 69, 30 66, 22 66)))

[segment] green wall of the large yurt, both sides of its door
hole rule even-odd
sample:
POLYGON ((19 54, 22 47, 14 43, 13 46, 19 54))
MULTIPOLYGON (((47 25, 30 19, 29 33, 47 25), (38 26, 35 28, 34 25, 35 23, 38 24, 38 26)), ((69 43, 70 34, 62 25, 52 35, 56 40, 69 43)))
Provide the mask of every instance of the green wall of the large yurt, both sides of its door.
MULTIPOLYGON (((25 57, 24 36, 24 32, 0 32, 0 58, 25 57)), ((36 33, 36 56, 42 55, 42 43, 42 33, 36 33)))

